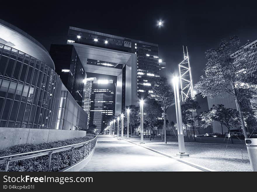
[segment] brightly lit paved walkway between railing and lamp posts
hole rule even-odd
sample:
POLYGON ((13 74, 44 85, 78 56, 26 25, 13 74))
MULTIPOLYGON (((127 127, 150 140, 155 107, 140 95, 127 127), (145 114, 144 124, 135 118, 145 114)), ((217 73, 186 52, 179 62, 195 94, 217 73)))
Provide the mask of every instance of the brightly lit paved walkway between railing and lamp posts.
POLYGON ((201 171, 125 140, 98 136, 90 162, 80 171, 201 171))

